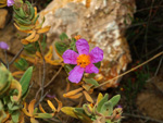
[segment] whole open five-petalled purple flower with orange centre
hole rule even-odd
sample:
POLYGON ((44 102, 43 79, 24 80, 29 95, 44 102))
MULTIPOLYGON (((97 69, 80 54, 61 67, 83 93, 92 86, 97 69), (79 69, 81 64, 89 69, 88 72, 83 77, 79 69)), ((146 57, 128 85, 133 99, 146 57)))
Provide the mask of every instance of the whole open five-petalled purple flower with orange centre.
POLYGON ((96 47, 89 52, 89 45, 86 39, 78 39, 76 41, 76 48, 78 53, 73 50, 66 50, 63 53, 64 63, 77 64, 71 72, 68 79, 72 83, 79 83, 84 72, 86 73, 99 73, 98 67, 93 63, 103 60, 103 51, 96 47))

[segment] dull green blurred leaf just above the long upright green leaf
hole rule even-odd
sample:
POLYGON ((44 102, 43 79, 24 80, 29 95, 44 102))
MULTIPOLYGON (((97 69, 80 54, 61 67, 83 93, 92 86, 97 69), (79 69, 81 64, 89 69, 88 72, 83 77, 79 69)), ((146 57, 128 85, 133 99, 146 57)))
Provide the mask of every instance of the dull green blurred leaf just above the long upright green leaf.
POLYGON ((23 58, 21 58, 17 62, 14 62, 14 65, 22 71, 25 71, 28 67, 27 61, 23 58))

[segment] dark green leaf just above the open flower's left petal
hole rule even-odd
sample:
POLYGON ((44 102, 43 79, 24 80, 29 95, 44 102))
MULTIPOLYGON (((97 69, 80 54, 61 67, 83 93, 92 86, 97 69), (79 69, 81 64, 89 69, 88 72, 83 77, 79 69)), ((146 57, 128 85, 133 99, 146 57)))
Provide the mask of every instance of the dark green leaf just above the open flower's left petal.
POLYGON ((63 52, 67 49, 67 46, 64 44, 64 42, 61 42, 61 41, 57 41, 54 44, 54 47, 55 47, 55 50, 57 52, 62 56, 63 52))

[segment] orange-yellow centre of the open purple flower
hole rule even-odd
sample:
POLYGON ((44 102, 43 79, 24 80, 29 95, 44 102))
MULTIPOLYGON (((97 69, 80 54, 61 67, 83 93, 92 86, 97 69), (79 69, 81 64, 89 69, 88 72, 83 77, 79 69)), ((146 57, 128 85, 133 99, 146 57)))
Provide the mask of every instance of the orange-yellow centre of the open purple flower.
POLYGON ((90 63, 90 57, 86 54, 80 54, 77 58, 77 65, 80 65, 80 67, 86 67, 90 63))

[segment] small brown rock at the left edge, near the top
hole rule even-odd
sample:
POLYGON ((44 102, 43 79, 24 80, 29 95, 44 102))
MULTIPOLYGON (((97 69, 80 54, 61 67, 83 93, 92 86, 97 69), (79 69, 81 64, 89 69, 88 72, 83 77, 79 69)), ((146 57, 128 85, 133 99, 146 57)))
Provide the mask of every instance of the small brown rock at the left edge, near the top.
POLYGON ((0 29, 5 26, 8 11, 5 9, 0 9, 0 29))

